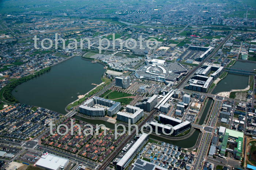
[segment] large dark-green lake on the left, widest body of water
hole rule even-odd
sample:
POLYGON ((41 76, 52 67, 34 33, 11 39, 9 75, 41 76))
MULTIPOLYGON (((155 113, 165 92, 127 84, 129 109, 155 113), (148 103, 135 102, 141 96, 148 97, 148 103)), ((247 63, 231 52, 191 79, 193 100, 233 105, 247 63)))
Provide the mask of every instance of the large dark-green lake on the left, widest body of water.
POLYGON ((104 66, 75 56, 49 72, 18 85, 12 95, 20 102, 66 114, 67 104, 101 83, 104 66))

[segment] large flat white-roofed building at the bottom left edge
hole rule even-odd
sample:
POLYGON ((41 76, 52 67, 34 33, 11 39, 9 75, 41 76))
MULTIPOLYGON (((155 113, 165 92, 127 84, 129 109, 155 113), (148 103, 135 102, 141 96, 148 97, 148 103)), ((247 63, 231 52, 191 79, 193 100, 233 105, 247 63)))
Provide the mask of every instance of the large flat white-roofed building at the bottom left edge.
POLYGON ((59 170, 64 169, 68 163, 68 159, 48 154, 48 152, 44 151, 41 158, 35 163, 35 166, 48 170, 59 170))

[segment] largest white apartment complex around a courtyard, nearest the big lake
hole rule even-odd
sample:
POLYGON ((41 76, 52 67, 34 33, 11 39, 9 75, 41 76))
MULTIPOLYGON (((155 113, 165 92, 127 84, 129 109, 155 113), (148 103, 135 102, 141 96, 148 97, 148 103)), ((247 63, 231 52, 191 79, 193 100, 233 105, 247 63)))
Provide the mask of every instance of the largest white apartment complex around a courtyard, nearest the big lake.
POLYGON ((108 116, 112 116, 116 114, 120 108, 120 102, 94 96, 92 99, 88 99, 79 106, 79 111, 81 114, 88 116, 105 116, 105 110, 107 110, 108 116))

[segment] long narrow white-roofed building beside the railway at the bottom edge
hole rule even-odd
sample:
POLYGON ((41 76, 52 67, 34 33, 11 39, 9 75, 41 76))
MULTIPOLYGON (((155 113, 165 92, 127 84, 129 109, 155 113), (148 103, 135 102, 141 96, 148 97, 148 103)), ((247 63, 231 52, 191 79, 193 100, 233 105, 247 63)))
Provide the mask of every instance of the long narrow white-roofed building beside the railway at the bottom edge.
POLYGON ((132 159, 140 151, 148 139, 148 134, 143 133, 132 147, 124 154, 120 161, 116 164, 117 170, 124 170, 129 165, 132 159))

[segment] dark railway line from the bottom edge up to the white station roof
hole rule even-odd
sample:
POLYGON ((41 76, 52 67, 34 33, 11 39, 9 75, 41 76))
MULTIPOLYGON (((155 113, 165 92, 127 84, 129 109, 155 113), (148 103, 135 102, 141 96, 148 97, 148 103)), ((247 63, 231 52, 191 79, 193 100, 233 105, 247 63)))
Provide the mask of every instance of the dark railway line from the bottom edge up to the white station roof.
MULTIPOLYGON (((150 112, 150 115, 147 116, 146 119, 144 119, 139 125, 139 130, 140 128, 148 121, 150 120, 150 118, 157 112, 156 109, 154 109, 153 111, 150 112)), ((104 170, 109 163, 112 161, 112 159, 114 159, 114 157, 116 157, 116 155, 121 151, 121 149, 123 149, 123 147, 129 142, 131 141, 131 139, 133 138, 133 136, 136 134, 136 128, 134 128, 131 132, 131 135, 128 135, 123 141, 122 143, 106 158, 106 160, 104 161, 104 163, 102 163, 102 165, 99 167, 99 170, 104 170)))

